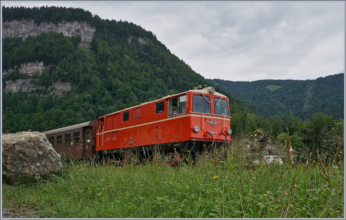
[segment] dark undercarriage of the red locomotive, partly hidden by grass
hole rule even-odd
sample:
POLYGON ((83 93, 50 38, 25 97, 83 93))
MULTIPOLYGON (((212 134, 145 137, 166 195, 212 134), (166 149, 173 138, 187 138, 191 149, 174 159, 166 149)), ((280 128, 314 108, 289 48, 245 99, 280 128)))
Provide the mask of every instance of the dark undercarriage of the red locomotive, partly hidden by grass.
MULTIPOLYGON (((158 162, 162 157, 166 158, 165 163, 175 165, 185 158, 195 160, 198 155, 212 151, 213 147, 220 146, 225 142, 212 142, 212 141, 183 141, 172 142, 164 144, 153 144, 136 147, 124 147, 118 149, 110 149, 99 151, 98 156, 107 158, 109 164, 111 162, 118 162, 122 164, 127 163, 145 163, 145 162, 158 162), (215 143, 215 144, 213 144, 215 143)), ((163 162, 160 160, 161 163, 163 162)))

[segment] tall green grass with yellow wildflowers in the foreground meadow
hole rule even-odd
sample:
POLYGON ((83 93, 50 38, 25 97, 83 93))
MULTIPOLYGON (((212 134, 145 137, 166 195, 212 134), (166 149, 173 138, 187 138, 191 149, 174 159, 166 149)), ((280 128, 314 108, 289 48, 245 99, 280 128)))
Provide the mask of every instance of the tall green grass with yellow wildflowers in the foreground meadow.
POLYGON ((3 205, 46 218, 344 218, 342 157, 257 165, 239 154, 233 144, 174 167, 162 154, 135 166, 64 162, 60 175, 3 184, 3 205))

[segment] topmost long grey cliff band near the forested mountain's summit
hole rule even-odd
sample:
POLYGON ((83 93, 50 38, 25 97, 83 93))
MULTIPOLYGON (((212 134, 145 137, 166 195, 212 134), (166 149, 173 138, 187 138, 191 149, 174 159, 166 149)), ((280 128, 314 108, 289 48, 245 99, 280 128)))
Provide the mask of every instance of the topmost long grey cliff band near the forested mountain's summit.
POLYGON ((73 35, 81 35, 83 42, 91 42, 94 37, 96 28, 91 27, 86 21, 63 21, 57 25, 49 22, 42 22, 36 25, 33 20, 26 21, 5 21, 2 23, 2 37, 34 37, 46 32, 63 33, 64 36, 72 37, 73 35))

